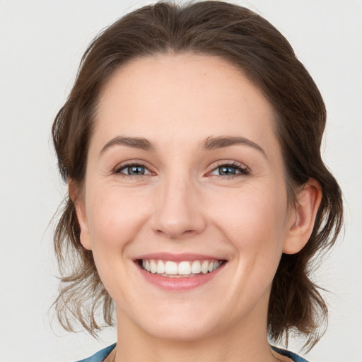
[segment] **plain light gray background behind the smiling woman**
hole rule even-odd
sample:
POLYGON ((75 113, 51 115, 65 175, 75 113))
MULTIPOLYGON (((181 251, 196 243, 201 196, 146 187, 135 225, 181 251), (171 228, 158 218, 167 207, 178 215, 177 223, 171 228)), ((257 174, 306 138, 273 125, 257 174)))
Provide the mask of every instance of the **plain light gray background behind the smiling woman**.
MULTIPOLYGON (((315 279, 332 293, 329 329, 310 361, 362 361, 362 1, 234 1, 286 35, 325 98, 323 155, 346 200, 346 232, 315 279)), ((0 361, 75 361, 115 341, 67 334, 47 310, 57 293, 49 221, 65 192, 52 119, 88 42, 130 0, 0 0, 0 361), (54 334, 55 332, 55 334, 54 334)), ((299 350, 300 343, 289 346, 299 350)))

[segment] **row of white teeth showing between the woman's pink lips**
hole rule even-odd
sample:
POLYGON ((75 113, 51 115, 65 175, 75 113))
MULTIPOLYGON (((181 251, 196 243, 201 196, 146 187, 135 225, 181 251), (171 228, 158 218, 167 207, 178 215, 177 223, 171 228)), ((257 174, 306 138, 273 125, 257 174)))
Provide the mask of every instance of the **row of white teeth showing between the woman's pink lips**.
POLYGON ((226 260, 185 260, 174 262, 160 259, 139 259, 139 266, 151 274, 169 278, 188 278, 209 274, 225 264, 226 260))

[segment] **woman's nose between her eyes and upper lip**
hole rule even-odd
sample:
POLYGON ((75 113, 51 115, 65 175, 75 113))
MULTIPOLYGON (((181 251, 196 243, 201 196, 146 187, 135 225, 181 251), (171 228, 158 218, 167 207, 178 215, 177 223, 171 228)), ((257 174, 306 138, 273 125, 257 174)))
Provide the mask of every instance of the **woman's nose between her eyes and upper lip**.
POLYGON ((175 175, 167 177, 159 187, 153 230, 173 240, 202 233, 206 219, 201 192, 192 185, 190 178, 175 175))

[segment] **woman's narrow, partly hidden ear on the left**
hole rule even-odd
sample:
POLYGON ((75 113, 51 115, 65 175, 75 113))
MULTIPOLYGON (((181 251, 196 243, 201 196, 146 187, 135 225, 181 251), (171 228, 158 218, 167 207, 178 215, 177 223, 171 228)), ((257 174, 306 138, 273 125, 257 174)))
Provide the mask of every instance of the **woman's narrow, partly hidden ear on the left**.
POLYGON ((74 180, 68 180, 68 192, 71 201, 76 207, 76 216, 78 218, 78 223, 81 228, 81 244, 87 250, 92 250, 91 238, 89 235, 88 221, 86 215, 86 205, 84 203, 83 197, 81 197, 81 192, 78 185, 74 180))

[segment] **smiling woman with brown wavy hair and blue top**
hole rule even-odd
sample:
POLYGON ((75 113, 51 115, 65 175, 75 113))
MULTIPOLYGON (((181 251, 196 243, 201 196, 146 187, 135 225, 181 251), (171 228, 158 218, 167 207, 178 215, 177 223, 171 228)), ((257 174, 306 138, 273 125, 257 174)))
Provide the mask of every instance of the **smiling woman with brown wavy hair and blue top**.
POLYGON ((53 125, 59 320, 95 335, 98 308, 117 316, 85 361, 305 361, 268 335, 312 347, 327 317, 308 278, 342 223, 324 128, 313 79, 246 8, 160 2, 96 38, 53 125))

